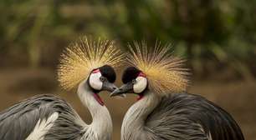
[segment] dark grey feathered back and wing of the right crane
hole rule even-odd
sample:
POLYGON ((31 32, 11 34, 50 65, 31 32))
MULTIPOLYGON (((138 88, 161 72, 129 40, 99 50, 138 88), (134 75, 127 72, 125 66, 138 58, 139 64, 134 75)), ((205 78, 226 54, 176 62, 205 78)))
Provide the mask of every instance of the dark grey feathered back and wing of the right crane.
POLYGON ((228 112, 204 97, 187 93, 163 97, 146 118, 145 131, 148 138, 157 140, 244 139, 228 112))

